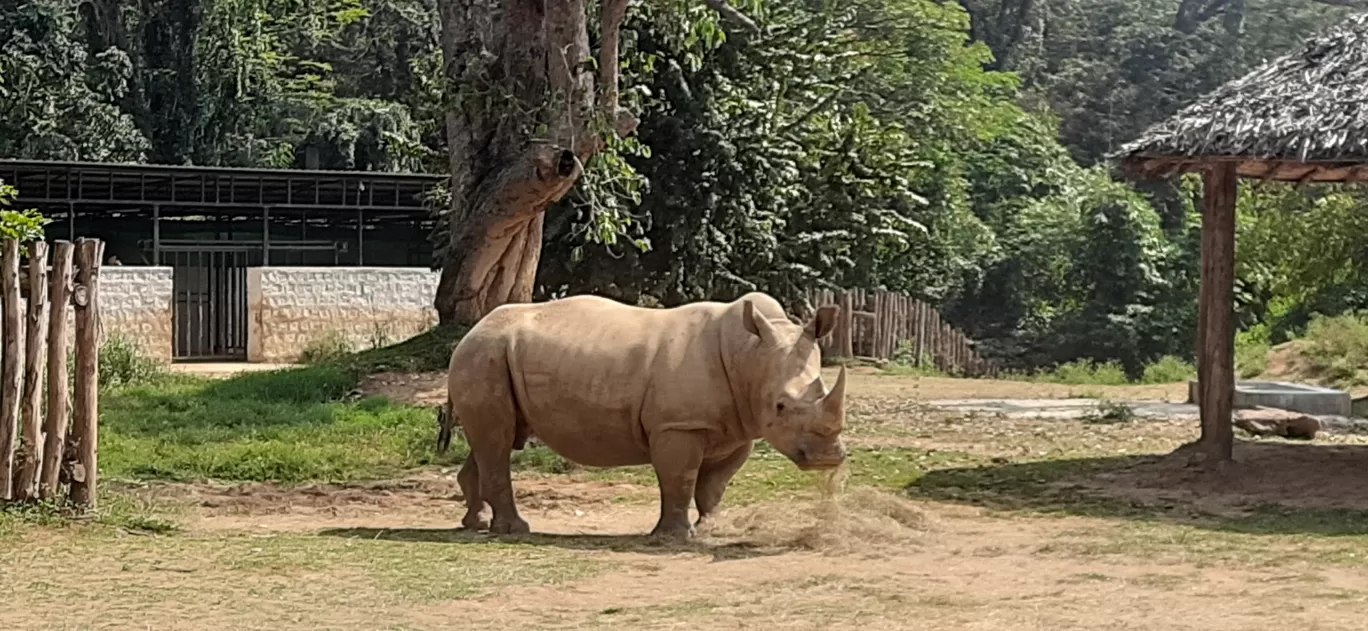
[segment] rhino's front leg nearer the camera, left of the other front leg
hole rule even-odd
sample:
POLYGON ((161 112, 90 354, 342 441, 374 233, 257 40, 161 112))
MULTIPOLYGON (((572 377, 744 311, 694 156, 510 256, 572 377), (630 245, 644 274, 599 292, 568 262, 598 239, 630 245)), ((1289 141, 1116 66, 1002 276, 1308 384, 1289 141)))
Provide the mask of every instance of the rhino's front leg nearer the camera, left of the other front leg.
POLYGON ((651 537, 688 539, 694 524, 688 506, 698 486, 698 469, 703 464, 705 437, 696 431, 663 431, 651 437, 651 467, 661 486, 661 519, 651 537))

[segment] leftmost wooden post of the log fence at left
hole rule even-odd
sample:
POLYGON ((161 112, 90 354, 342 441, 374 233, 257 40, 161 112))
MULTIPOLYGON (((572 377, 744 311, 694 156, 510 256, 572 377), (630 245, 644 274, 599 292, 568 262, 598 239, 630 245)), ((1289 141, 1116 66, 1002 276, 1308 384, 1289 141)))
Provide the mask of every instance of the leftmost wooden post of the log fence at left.
POLYGON ((23 307, 19 301, 19 242, 5 240, 0 256, 0 307, 4 311, 4 333, 0 338, 0 501, 12 498, 14 448, 19 434, 19 372, 23 349, 23 307))

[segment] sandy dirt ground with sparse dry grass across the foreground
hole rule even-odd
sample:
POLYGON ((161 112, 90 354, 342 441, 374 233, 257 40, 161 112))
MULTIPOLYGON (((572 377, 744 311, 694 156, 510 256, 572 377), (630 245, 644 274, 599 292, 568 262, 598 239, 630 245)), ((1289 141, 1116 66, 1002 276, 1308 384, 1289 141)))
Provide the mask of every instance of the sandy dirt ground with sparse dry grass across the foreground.
POLYGON ((0 627, 1357 630, 1368 601, 1368 574, 1308 541, 919 502, 925 526, 897 542, 659 546, 642 537, 653 489, 517 486, 538 535, 512 545, 453 530, 460 502, 440 472, 149 489, 187 505, 185 532, 53 532, 0 554, 0 568, 22 557, 30 572, 0 571, 0 627), (81 606, 52 606, 82 586, 94 591, 81 606))

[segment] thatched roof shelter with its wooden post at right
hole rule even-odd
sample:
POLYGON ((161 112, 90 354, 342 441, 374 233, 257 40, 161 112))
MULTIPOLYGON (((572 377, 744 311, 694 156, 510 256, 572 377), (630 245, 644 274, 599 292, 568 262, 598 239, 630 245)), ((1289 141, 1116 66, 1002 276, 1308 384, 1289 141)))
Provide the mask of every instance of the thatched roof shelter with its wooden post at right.
POLYGON ((1368 14, 1354 15, 1155 125, 1116 157, 1148 177, 1202 172, 1198 453, 1233 452, 1238 178, 1368 181, 1368 14))

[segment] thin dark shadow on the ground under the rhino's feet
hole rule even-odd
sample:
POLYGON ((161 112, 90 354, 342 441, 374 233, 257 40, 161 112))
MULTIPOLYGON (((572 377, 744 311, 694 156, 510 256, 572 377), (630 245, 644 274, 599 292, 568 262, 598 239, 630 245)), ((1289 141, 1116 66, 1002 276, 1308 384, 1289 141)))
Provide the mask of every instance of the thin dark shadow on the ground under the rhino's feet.
POLYGON ((547 534, 491 535, 465 528, 326 528, 320 537, 346 539, 398 541, 409 543, 483 545, 491 542, 531 546, 550 546, 566 550, 627 552, 639 554, 710 554, 714 561, 732 561, 781 554, 785 550, 747 542, 710 542, 706 538, 689 542, 666 542, 648 535, 547 534))

